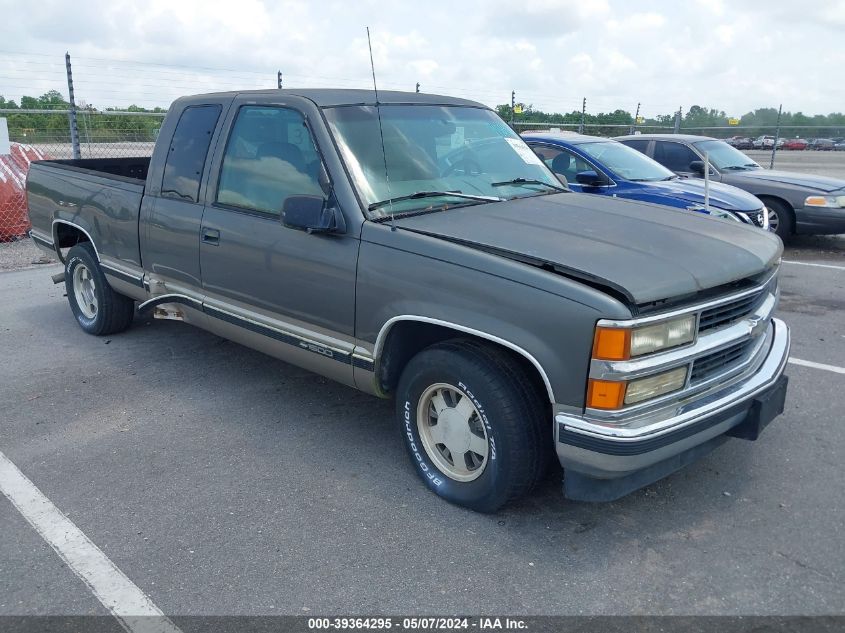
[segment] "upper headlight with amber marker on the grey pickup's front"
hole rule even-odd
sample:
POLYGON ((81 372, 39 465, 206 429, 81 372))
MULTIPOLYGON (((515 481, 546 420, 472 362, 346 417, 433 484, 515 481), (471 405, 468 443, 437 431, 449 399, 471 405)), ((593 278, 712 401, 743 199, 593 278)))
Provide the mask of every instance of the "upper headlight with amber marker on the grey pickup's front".
POLYGON ((695 315, 662 321, 638 328, 597 327, 593 358, 626 360, 692 343, 695 339, 695 315))

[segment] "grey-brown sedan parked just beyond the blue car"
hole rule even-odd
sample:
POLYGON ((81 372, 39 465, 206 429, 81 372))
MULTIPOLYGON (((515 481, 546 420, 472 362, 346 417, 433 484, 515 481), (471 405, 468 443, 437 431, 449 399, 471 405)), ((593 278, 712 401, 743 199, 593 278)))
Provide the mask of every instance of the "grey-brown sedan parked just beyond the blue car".
POLYGON ((769 225, 784 239, 794 233, 845 233, 845 180, 763 169, 736 148, 707 136, 641 134, 617 140, 681 176, 701 176, 707 152, 713 178, 762 200, 769 225))

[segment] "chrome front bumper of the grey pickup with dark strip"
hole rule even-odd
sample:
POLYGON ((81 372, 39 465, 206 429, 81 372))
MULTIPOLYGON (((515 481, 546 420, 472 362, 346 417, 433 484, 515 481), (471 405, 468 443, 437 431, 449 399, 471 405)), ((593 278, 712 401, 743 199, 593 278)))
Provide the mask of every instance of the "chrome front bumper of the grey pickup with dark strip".
MULTIPOLYGON (((774 388, 783 375, 790 345, 789 328, 783 321, 771 320, 765 345, 768 350, 761 350, 760 362, 755 363, 752 373, 698 399, 679 403, 674 415, 655 424, 609 427, 584 416, 558 413, 555 445, 564 477, 567 472, 599 480, 626 477, 668 464, 682 454, 690 455, 696 447, 724 436, 745 421, 754 399, 774 388)), ((674 470, 687 463, 676 461, 674 470)))

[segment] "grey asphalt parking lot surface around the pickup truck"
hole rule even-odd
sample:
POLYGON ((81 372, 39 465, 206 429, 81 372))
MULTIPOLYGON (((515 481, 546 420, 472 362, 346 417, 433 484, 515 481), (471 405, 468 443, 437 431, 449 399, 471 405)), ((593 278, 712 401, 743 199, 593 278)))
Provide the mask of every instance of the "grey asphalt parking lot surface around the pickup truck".
MULTIPOLYGON (((821 240, 821 241, 820 241, 821 240)), ((787 250, 793 358, 845 365, 845 240, 787 250)), ((560 473, 485 516, 428 493, 389 402, 189 326, 96 338, 39 267, 0 273, 0 451, 166 614, 843 612, 845 375, 610 504, 560 473)), ((0 498, 0 615, 102 614, 0 498)))

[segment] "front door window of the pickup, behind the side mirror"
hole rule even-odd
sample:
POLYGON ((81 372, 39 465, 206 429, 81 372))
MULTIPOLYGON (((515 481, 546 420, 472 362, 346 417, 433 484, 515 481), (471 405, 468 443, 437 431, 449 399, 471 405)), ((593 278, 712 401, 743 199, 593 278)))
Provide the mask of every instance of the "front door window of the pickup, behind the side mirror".
POLYGON ((219 204, 280 216, 289 196, 323 196, 320 155, 296 110, 240 109, 226 144, 219 204))

